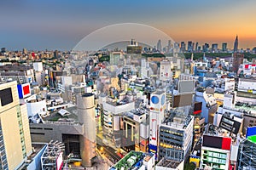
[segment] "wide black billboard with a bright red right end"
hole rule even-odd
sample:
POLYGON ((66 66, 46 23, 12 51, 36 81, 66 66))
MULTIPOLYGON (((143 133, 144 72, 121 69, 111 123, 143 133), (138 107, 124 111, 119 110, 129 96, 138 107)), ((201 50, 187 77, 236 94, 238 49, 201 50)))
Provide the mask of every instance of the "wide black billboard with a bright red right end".
POLYGON ((204 135, 202 146, 209 148, 217 148, 220 150, 230 150, 231 138, 204 135))

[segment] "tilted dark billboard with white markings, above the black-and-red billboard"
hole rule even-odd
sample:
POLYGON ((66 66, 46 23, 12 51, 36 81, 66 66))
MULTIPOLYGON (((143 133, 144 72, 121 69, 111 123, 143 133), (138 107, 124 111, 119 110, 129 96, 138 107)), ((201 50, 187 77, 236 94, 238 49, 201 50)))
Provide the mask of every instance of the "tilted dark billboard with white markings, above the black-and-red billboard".
POLYGON ((229 117, 222 116, 218 127, 224 128, 230 133, 237 134, 240 129, 241 122, 237 122, 229 117))

